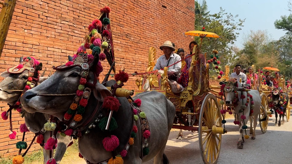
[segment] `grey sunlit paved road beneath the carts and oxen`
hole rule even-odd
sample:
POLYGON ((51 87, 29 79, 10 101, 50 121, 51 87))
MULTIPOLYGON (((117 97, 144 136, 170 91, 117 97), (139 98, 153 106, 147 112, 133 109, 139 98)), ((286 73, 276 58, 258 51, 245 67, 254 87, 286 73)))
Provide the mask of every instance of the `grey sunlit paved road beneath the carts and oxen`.
MULTIPOLYGON (((239 131, 233 121, 228 119, 225 124, 228 133, 222 135, 218 164, 292 164, 292 119, 278 127, 275 117, 270 117, 268 131, 263 134, 257 125, 256 140, 247 139, 243 149, 237 149, 239 131)), ((198 133, 185 131, 183 140, 176 140, 177 134, 171 131, 165 148, 171 164, 203 164, 198 133)), ((153 164, 153 160, 145 164, 153 164)))

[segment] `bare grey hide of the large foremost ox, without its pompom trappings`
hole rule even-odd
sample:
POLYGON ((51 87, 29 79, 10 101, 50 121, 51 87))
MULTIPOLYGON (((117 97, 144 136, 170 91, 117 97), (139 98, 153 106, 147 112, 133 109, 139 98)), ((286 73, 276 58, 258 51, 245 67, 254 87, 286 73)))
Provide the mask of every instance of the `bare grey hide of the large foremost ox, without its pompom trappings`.
MULTIPOLYGON (((94 59, 95 60, 95 59, 94 59)), ((98 61, 95 60, 94 62, 98 61)), ((94 63, 92 62, 92 63, 94 63)), ((57 70, 49 79, 39 84, 37 87, 27 91, 21 98, 23 108, 29 113, 41 112, 55 115, 62 120, 64 114, 70 107, 74 96, 52 97, 46 94, 71 94, 76 93, 80 80, 81 67, 74 66, 66 70, 57 70), (41 96, 39 95, 41 94, 41 96)), ((93 83, 93 73, 89 72, 88 82, 93 83)), ((110 84, 108 84, 110 85, 110 84)), ((96 164, 112 157, 112 152, 106 151, 103 147, 103 139, 109 134, 101 131, 98 127, 85 134, 86 127, 81 127, 92 115, 95 107, 104 101, 104 98, 111 96, 111 92, 101 83, 97 82, 93 86, 91 97, 86 106, 83 119, 78 122, 77 128, 82 131, 82 137, 78 138, 79 152, 89 162, 96 164)), ((167 164, 168 160, 164 154, 164 148, 175 117, 174 105, 161 93, 144 92, 138 94, 133 99, 140 98, 142 105, 140 109, 146 113, 151 135, 149 139, 149 154, 145 158, 142 155, 142 132, 138 119, 138 132, 126 157, 125 164, 142 164, 152 158, 154 164, 167 164)), ((133 115, 131 106, 127 98, 118 98, 121 106, 118 112, 113 113, 118 129, 111 132, 119 138, 120 146, 113 154, 120 153, 128 142, 128 136, 132 129, 133 115)), ((100 108, 95 115, 104 114, 100 108)))

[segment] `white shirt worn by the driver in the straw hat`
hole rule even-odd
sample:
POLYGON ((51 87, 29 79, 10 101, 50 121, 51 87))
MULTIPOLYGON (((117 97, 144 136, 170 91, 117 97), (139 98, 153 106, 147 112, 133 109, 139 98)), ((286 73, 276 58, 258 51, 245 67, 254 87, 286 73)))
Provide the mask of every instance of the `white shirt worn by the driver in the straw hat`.
MULTIPOLYGON (((172 53, 168 60, 166 59, 165 55, 162 55, 157 59, 156 65, 153 70, 164 69, 165 66, 170 66, 180 60, 182 60, 181 56, 176 53, 172 53)), ((179 75, 181 73, 181 68, 182 62, 179 62, 173 66, 168 67, 168 71, 176 72, 179 75)))

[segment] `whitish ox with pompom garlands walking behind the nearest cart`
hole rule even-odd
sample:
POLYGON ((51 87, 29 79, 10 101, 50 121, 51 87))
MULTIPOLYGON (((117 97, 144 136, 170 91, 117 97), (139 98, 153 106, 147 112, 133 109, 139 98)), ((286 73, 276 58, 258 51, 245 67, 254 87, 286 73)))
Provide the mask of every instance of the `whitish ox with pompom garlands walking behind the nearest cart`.
POLYGON ((255 132, 257 117, 260 112, 261 97, 257 90, 249 91, 243 88, 242 84, 237 83, 237 81, 225 82, 225 84, 221 85, 221 89, 224 90, 225 104, 229 107, 228 109, 234 110, 234 123, 239 127, 240 136, 237 148, 243 148, 244 138, 249 138, 248 135, 245 135, 243 138, 243 131, 246 134, 248 120, 250 120, 250 134, 252 134, 252 139, 256 139, 255 132))

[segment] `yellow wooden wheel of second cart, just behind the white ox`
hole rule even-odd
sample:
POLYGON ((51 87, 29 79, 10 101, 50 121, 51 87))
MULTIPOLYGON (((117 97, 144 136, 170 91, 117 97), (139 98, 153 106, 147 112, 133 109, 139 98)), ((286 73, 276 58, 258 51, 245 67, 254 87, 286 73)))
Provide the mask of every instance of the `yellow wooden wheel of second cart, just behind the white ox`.
POLYGON ((260 130, 263 133, 265 133, 267 132, 268 123, 269 123, 269 115, 267 114, 267 110, 269 110, 269 102, 268 102, 267 96, 264 93, 262 93, 260 97, 262 98, 262 101, 261 101, 261 106, 260 106, 260 112, 258 114, 258 119, 259 119, 260 130), (265 117, 266 117, 266 120, 261 121, 265 117))

